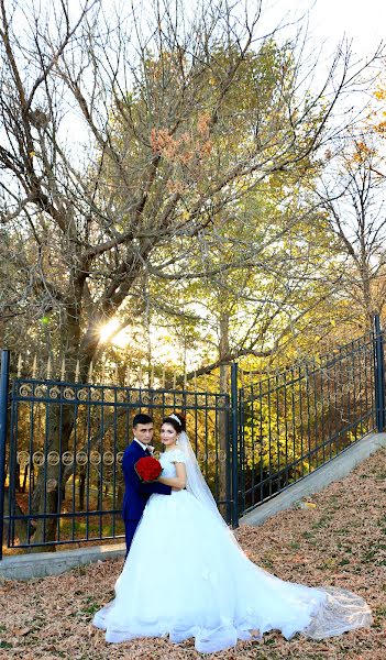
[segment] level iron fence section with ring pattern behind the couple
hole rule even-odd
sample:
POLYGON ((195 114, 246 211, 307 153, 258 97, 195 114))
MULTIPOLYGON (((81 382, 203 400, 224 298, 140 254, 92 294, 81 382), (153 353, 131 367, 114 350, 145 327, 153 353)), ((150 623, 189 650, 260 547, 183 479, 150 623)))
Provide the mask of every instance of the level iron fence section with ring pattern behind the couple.
POLYGON ((9 548, 124 538, 120 463, 140 411, 159 428, 184 410, 202 472, 231 521, 227 394, 15 378, 8 402, 1 483, 9 548))

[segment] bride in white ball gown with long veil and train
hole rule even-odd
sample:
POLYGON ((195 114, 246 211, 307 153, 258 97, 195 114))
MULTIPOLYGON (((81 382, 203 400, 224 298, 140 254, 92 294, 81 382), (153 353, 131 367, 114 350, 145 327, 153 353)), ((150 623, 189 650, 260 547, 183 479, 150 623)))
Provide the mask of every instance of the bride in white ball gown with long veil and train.
POLYGON ((252 563, 218 512, 184 418, 164 419, 161 439, 158 481, 174 490, 150 497, 115 598, 93 617, 107 641, 195 637, 196 649, 210 653, 271 629, 322 639, 371 625, 368 606, 352 592, 284 582, 252 563))

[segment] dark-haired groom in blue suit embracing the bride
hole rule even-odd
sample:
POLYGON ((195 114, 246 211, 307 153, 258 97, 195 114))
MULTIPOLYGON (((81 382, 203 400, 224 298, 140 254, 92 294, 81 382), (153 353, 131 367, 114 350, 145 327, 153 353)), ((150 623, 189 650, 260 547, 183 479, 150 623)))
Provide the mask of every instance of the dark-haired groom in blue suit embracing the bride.
POLYGON ((143 457, 152 455, 153 447, 150 447, 150 443, 153 438, 153 419, 148 415, 135 415, 133 419, 134 440, 129 444, 122 459, 125 485, 122 517, 126 539, 126 557, 146 502, 152 493, 161 493, 162 495, 170 495, 172 493, 170 486, 165 486, 157 482, 147 484, 141 482, 134 470, 136 461, 143 457))

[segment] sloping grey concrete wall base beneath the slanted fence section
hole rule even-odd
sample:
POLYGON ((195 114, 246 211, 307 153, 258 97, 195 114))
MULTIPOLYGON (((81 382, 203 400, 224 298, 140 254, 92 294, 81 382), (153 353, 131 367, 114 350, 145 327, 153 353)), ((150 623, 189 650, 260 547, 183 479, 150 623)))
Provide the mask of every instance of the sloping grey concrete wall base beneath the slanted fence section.
POLYGON ((319 493, 319 491, 322 491, 331 482, 343 479, 356 465, 368 459, 372 453, 378 451, 382 447, 386 447, 386 433, 370 433, 365 436, 365 438, 362 438, 362 440, 349 447, 343 453, 332 459, 330 463, 318 468, 318 470, 289 486, 286 491, 269 499, 269 502, 257 506, 243 516, 240 519, 240 525, 252 525, 253 527, 262 525, 264 520, 278 512, 290 508, 304 497, 308 497, 312 493, 319 493))

